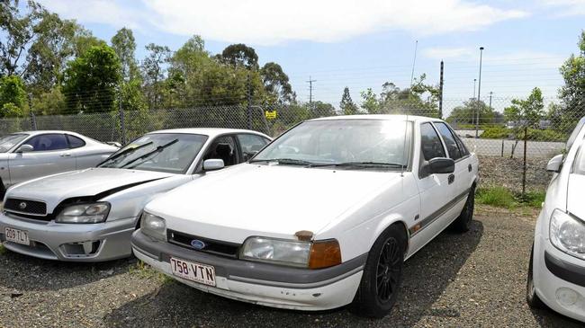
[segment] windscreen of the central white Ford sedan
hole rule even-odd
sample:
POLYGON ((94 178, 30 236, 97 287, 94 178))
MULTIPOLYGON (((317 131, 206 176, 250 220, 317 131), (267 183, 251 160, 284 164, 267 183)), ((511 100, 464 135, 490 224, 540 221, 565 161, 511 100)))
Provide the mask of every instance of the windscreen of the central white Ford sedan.
POLYGON ((277 138, 254 160, 407 167, 411 124, 404 120, 313 120, 277 138), (406 138, 406 140, 405 140, 406 138))

